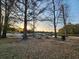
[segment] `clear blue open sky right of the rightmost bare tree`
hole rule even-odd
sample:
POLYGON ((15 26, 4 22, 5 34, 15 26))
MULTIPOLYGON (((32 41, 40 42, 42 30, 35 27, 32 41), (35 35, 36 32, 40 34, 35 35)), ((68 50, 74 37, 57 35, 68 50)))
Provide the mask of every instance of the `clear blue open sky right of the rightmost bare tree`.
POLYGON ((68 0, 69 5, 69 18, 74 24, 79 24, 79 0, 68 0))

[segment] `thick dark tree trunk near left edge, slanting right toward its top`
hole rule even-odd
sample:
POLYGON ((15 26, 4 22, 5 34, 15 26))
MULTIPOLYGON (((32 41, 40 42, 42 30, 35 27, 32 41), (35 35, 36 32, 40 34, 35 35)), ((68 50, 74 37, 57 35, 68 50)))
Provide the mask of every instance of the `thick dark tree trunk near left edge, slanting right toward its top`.
POLYGON ((2 37, 6 38, 6 33, 8 29, 8 21, 9 21, 9 15, 10 10, 14 5, 15 0, 5 0, 5 21, 4 21, 4 28, 3 28, 3 34, 2 37))

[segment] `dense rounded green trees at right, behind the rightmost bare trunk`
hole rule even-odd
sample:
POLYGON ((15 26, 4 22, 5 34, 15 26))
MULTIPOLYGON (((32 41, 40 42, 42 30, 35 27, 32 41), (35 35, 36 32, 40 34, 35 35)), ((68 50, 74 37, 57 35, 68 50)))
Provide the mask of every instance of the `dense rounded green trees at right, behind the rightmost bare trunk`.
MULTIPOLYGON (((79 24, 71 24, 69 23, 68 25, 65 26, 67 29, 67 35, 79 35, 79 24)), ((64 34, 64 28, 59 29, 59 34, 63 35, 64 34)))

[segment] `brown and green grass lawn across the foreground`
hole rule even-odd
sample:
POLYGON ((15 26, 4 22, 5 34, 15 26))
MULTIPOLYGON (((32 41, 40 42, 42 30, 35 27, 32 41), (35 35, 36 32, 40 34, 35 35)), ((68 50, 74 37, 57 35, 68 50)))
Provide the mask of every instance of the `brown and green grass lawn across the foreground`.
POLYGON ((0 59, 79 59, 79 40, 0 40, 0 59))

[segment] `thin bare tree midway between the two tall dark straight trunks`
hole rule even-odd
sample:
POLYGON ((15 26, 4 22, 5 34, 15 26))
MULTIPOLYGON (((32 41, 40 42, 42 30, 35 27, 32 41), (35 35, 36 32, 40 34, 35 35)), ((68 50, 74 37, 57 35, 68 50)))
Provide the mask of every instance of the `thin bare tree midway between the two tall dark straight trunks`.
MULTIPOLYGON (((47 7, 49 6, 49 4, 47 4, 45 7, 42 7, 41 8, 41 4, 42 4, 42 0, 30 0, 30 6, 31 8, 29 8, 32 12, 30 12, 30 18, 32 18, 32 22, 33 22, 33 27, 32 27, 32 30, 33 30, 33 37, 35 37, 35 25, 36 25, 36 22, 37 21, 41 21, 38 18, 38 16, 40 14, 42 14, 46 9, 47 7), (40 2, 40 4, 38 5, 38 2, 40 2)), ((45 20, 44 20, 45 21, 45 20)))

